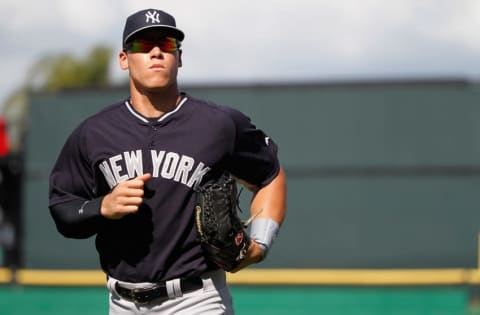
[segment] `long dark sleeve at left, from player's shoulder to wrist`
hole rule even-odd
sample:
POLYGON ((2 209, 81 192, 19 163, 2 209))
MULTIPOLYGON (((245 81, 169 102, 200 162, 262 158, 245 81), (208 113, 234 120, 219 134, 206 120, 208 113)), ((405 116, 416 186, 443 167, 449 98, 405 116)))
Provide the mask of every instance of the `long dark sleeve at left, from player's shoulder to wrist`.
POLYGON ((102 197, 95 193, 95 175, 83 139, 80 126, 63 146, 49 182, 50 213, 59 232, 72 238, 94 235, 103 220, 102 197))

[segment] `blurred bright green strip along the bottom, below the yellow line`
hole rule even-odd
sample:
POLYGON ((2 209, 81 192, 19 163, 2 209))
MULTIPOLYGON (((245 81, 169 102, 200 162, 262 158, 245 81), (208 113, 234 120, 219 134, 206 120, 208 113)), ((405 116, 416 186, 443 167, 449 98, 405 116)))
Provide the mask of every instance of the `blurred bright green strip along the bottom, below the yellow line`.
MULTIPOLYGON (((238 315, 473 315, 465 287, 233 286, 238 315)), ((0 286, 2 315, 107 314, 103 287, 0 286)))

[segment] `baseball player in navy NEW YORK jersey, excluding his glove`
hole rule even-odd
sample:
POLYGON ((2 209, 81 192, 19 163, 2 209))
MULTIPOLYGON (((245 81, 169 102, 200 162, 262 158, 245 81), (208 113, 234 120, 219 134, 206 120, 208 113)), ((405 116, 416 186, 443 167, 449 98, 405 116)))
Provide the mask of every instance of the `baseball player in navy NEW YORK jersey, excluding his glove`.
POLYGON ((276 144, 241 112, 180 92, 183 39, 164 11, 127 18, 119 63, 130 96, 83 121, 51 172, 58 231, 96 236, 110 314, 233 313, 225 271, 206 259, 194 228, 202 182, 228 171, 253 191, 259 214, 234 272, 265 258, 284 219, 276 144))

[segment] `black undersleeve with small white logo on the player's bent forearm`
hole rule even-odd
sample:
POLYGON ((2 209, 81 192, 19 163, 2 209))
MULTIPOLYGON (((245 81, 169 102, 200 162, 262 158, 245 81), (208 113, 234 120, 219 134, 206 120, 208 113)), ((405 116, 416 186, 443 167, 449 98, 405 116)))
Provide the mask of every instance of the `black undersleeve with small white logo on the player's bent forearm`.
POLYGON ((102 198, 75 199, 50 206, 57 230, 65 237, 88 238, 97 233, 103 220, 100 215, 102 198))

